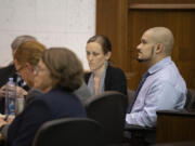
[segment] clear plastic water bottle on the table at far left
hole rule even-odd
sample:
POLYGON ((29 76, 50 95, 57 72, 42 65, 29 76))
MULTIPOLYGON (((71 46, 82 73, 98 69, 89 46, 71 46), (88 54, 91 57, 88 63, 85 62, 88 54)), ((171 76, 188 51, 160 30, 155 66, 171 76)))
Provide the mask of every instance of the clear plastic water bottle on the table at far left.
POLYGON ((15 116, 16 85, 13 78, 9 78, 5 88, 5 115, 15 116))

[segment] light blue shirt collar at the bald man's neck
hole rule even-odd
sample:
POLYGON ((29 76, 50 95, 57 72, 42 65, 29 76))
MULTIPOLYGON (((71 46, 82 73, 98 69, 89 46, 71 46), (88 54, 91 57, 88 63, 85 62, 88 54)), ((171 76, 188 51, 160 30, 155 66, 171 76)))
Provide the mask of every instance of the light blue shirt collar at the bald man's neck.
POLYGON ((162 69, 165 66, 167 66, 168 64, 170 64, 172 61, 171 61, 171 57, 168 56, 168 57, 165 57, 164 59, 159 61, 158 63, 156 63, 155 65, 153 65, 150 69, 148 69, 148 72, 152 75, 152 74, 155 74, 156 71, 162 69))

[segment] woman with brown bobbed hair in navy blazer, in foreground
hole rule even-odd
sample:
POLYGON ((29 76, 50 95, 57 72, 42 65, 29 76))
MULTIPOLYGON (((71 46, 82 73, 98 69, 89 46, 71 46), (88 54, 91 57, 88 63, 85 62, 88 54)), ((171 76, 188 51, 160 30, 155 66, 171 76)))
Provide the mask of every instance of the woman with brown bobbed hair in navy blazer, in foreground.
POLYGON ((86 117, 73 93, 82 84, 83 69, 78 57, 65 48, 49 49, 35 70, 34 87, 41 94, 16 116, 8 131, 6 146, 29 146, 40 125, 66 117, 86 117))

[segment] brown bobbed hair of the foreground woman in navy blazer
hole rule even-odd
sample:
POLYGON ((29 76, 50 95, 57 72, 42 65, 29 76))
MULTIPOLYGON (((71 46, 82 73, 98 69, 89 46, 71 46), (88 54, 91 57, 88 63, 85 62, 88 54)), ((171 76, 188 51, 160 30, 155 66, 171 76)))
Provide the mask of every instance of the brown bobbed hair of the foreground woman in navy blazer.
POLYGON ((42 62, 50 70, 51 77, 56 81, 54 87, 73 92, 82 84, 82 64, 70 50, 51 48, 42 54, 42 62))

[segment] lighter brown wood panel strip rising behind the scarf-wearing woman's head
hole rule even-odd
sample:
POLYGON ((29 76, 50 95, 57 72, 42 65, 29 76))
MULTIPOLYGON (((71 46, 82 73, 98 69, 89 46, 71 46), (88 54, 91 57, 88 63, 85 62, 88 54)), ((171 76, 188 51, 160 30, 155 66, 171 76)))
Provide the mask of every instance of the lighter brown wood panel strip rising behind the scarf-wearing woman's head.
POLYGON ((96 34, 107 36, 113 45, 112 61, 116 66, 127 64, 128 0, 96 0, 96 34))

